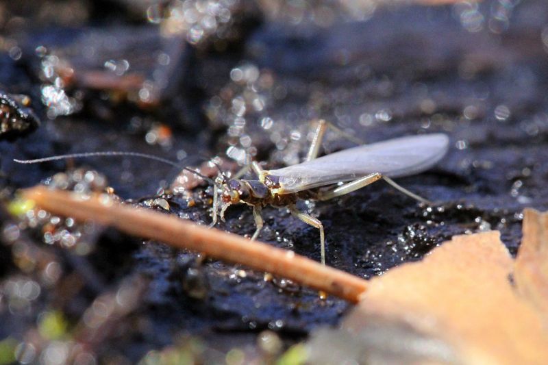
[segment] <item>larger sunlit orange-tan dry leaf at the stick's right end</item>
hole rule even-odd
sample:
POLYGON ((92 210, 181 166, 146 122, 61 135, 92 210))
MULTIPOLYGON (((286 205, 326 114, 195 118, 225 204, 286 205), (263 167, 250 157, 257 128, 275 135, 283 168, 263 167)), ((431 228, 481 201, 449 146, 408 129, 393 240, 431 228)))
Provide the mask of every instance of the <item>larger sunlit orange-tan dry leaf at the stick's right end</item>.
POLYGON ((422 262, 372 279, 343 327, 362 338, 396 326, 442 340, 449 351, 423 357, 436 362, 548 364, 548 334, 512 288, 512 268, 499 232, 453 237, 422 262))

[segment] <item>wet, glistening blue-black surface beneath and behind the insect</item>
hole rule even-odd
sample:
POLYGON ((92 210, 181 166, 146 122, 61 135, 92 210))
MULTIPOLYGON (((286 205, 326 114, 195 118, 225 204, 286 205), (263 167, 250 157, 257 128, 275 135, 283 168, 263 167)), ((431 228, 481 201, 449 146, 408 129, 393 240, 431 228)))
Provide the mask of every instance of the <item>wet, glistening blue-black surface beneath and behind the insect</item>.
MULTIPOLYGON (((238 151, 247 151, 269 166, 283 166, 306 155, 314 118, 332 121, 366 142, 442 131, 451 139, 447 156, 426 173, 398 179, 434 201, 432 206, 382 183, 333 201, 299 205, 323 222, 327 264, 369 278, 419 260, 453 235, 486 229, 499 229, 515 255, 523 208, 548 208, 548 55, 543 44, 548 12, 543 1, 517 5, 508 13, 508 29, 501 32, 499 27, 506 23, 494 18, 497 4, 487 1, 480 6, 477 14, 483 21, 475 20, 479 25, 466 21, 458 6, 379 8, 369 21, 328 28, 256 18, 253 24, 260 25, 223 51, 187 45, 185 66, 174 71, 182 81, 160 105, 141 108, 131 100, 113 101, 112 94, 84 89, 81 111, 54 120, 39 105, 45 81, 37 75, 38 56, 25 51, 14 60, 8 49, 0 54, 0 84, 8 92, 37 98, 35 110, 42 125, 15 142, 0 142, 3 196, 8 199, 17 188, 65 171, 66 162, 19 165, 13 158, 116 150, 173 160, 190 156, 185 162, 197 166, 203 155, 228 153, 237 160, 238 151), (476 29, 480 25, 482 29, 476 29), (147 142, 155 123, 171 129, 169 143, 147 142)), ((123 27, 141 26, 123 20, 124 11, 119 9, 121 23, 127 23, 123 27)), ((91 14, 97 17, 91 25, 100 29, 102 15, 91 14)), ((23 42, 21 49, 71 42, 71 36, 48 27, 25 27, 23 36, 14 38, 23 42)), ((67 92, 75 95, 78 90, 67 92)), ((327 134, 327 151, 352 145, 327 134)), ((133 158, 71 164, 99 171, 116 194, 134 201, 156 197, 177 175, 170 166, 133 158)), ((199 187, 188 197, 166 194, 162 199, 169 203, 169 214, 205 225, 211 219, 210 197, 211 189, 199 187)), ((219 228, 253 234, 248 207, 231 207, 226 216, 219 228)), ((264 220, 261 240, 319 260, 316 229, 284 209, 266 208, 264 220)), ((13 224, 7 216, 3 223, 13 224)), ((87 255, 41 242, 43 231, 22 233, 29 247, 53 255, 64 270, 54 284, 42 285, 40 296, 23 314, 5 305, 9 301, 3 284, 0 317, 9 325, 3 325, 0 336, 11 333, 28 341, 38 314, 46 309, 58 309, 69 323, 77 323, 95 297, 132 275, 145 277, 147 290, 139 294, 139 305, 119 319, 127 331, 112 331, 107 347, 92 347, 103 361, 135 362, 181 336, 199 336, 221 353, 253 347, 256 335, 265 329, 290 344, 315 327, 336 325, 349 308, 345 301, 323 301, 316 292, 282 279, 265 281, 263 273, 243 266, 202 262, 195 254, 157 242, 101 232, 94 239, 95 250, 87 255), (84 283, 79 290, 66 289, 70 276, 84 283), (63 301, 55 299, 59 293, 63 301), (109 342, 112 339, 116 342, 109 342)), ((37 269, 23 270, 9 260, 14 243, 4 241, 8 245, 1 247, 1 280, 27 277, 41 283, 37 269)), ((211 351, 210 358, 221 356, 211 351)))

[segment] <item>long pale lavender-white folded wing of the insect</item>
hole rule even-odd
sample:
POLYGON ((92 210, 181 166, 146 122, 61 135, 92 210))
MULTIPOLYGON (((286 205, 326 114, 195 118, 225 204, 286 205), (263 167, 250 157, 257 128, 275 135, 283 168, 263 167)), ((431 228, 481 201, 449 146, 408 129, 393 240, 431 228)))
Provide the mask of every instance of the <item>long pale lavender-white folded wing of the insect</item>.
POLYGON ((394 138, 266 173, 279 177, 283 193, 349 181, 371 173, 408 176, 434 166, 443 158, 448 146, 449 138, 445 134, 394 138))

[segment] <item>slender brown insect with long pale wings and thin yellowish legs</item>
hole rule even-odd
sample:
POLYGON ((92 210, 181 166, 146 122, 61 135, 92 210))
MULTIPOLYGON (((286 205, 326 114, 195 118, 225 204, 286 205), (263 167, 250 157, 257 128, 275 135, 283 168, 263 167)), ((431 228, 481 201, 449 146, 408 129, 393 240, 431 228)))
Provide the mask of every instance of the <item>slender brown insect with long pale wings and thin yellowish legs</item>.
MULTIPOLYGON (((321 144, 321 126, 316 131, 307 160, 301 164, 263 170, 253 162, 251 168, 257 180, 227 179, 220 177, 214 186, 213 221, 224 220, 230 205, 245 203, 253 207, 256 230, 255 240, 264 225, 262 207, 288 207, 293 216, 320 231, 321 262, 325 264, 325 234, 321 221, 297 209, 298 199, 325 201, 353 192, 384 179, 397 190, 413 199, 427 202, 399 186, 391 178, 421 173, 438 162, 449 146, 445 134, 407 136, 366 144, 316 158, 321 144), (343 185, 335 185, 345 183, 343 185)), ((325 128, 324 128, 325 130, 325 128)))

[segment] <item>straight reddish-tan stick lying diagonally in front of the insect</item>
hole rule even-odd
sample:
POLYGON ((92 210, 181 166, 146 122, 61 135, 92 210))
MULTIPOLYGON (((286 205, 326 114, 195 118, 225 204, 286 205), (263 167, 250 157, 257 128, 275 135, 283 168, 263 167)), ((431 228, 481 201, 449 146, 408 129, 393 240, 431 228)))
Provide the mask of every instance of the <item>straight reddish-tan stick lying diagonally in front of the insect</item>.
POLYGON ((251 242, 241 236, 208 229, 175 216, 121 205, 106 195, 84 199, 75 193, 38 186, 23 190, 23 196, 53 214, 71 216, 78 221, 96 221, 134 236, 266 271, 352 303, 357 303, 359 295, 366 290, 367 281, 364 279, 323 266, 292 251, 251 242))

